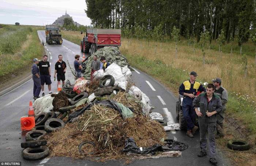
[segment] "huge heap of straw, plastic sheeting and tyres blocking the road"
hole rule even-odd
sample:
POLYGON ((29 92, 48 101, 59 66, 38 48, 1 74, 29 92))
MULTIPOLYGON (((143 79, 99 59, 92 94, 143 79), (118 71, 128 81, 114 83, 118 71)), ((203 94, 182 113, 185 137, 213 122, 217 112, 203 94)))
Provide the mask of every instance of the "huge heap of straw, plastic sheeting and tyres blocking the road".
POLYGON ((54 119, 62 115, 65 122, 65 126, 47 123, 56 127, 44 136, 50 156, 94 161, 128 161, 138 158, 138 155, 155 158, 154 154, 158 157, 180 156, 179 150, 187 149, 187 144, 167 139, 163 126, 150 118, 149 98, 129 82, 131 71, 128 66, 122 66, 124 63, 118 65, 118 60, 122 59, 120 51, 104 47, 95 54, 106 58, 116 54, 116 58, 106 72, 95 72, 93 81, 79 78, 74 85, 66 82, 59 93, 34 102, 37 116, 51 110, 56 114, 54 119), (133 157, 128 154, 133 154, 133 157))

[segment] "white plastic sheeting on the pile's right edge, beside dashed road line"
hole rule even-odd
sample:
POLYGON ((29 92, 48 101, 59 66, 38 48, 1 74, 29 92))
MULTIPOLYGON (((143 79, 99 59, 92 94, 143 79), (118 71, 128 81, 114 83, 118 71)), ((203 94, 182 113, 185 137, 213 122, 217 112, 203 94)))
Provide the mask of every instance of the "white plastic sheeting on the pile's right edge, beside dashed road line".
POLYGON ((138 87, 131 86, 128 90, 129 94, 135 96, 140 102, 142 102, 142 112, 147 117, 149 116, 149 111, 151 109, 150 99, 146 94, 144 94, 138 87))

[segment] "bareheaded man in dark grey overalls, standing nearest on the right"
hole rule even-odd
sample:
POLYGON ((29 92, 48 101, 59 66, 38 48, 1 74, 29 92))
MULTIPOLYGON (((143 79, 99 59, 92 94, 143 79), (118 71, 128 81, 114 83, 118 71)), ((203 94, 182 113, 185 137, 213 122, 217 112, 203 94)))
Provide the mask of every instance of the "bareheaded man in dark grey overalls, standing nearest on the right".
POLYGON ((214 94, 214 85, 208 84, 206 88, 206 93, 201 93, 196 96, 193 101, 193 107, 195 107, 195 112, 199 116, 199 127, 200 127, 200 146, 201 151, 197 155, 198 157, 203 157, 207 155, 206 146, 207 139, 206 133, 208 133, 209 140, 209 161, 213 164, 217 164, 216 151, 215 151, 215 130, 217 122, 217 113, 221 111, 222 104, 221 98, 214 94), (198 106, 200 105, 200 110, 198 106))

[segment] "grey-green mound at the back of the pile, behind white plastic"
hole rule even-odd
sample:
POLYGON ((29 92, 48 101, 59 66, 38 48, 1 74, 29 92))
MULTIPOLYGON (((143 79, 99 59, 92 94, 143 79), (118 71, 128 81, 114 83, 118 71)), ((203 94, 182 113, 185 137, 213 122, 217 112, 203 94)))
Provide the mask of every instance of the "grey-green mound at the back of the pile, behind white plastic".
MULTIPOLYGON (((117 47, 103 47, 96 51, 93 55, 97 55, 98 58, 105 56, 106 61, 110 64, 116 63, 121 67, 128 66, 127 59, 121 54, 117 47)), ((90 56, 83 64, 84 77, 89 79, 91 73, 91 62, 93 62, 93 56, 90 56)))

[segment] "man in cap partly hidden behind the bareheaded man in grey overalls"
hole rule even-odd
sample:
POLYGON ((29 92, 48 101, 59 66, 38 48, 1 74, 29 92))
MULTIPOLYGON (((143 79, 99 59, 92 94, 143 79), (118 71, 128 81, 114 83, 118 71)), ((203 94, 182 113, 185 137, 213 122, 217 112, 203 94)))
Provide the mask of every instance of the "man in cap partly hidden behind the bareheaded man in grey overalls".
POLYGON ((217 135, 219 137, 224 137, 224 132, 223 132, 223 121, 224 121, 224 113, 226 110, 225 104, 227 103, 227 90, 221 86, 221 79, 220 78, 215 78, 212 80, 215 91, 214 94, 218 95, 221 98, 221 103, 222 103, 222 110, 217 114, 217 135))

